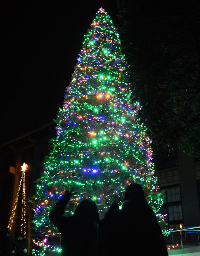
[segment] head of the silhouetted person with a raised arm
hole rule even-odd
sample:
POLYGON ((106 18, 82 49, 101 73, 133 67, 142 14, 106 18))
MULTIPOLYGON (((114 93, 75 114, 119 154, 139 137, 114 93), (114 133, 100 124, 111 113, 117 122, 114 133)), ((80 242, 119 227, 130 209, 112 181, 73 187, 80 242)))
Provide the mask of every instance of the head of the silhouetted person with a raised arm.
POLYGON ((84 199, 74 211, 74 216, 81 215, 91 222, 99 223, 99 213, 96 203, 91 199, 84 199))

